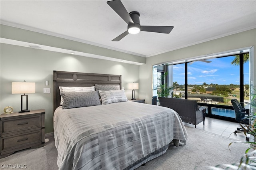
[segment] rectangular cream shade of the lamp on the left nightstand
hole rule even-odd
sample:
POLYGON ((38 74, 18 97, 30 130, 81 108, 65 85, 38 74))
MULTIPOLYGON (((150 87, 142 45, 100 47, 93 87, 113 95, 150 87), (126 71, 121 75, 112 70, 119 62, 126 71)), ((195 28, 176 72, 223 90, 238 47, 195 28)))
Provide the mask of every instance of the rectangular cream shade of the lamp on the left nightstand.
POLYGON ((35 93, 35 83, 12 82, 12 94, 35 93))

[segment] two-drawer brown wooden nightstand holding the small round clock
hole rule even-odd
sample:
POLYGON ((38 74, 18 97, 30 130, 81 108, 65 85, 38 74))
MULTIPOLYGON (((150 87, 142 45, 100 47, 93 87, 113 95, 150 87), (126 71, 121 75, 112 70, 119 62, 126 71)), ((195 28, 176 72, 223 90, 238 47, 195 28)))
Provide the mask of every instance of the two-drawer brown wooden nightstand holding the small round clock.
POLYGON ((44 115, 44 109, 0 115, 1 158, 18 150, 44 146, 44 115))

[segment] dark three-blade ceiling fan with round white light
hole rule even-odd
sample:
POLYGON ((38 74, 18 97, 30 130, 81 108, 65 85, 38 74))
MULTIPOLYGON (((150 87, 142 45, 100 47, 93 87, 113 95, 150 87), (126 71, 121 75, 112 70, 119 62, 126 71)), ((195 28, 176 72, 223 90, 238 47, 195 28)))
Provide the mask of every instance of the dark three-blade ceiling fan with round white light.
POLYGON ((120 0, 108 1, 107 4, 128 24, 128 29, 120 36, 114 38, 113 41, 120 41, 122 38, 130 34, 138 34, 140 31, 158 32, 169 34, 173 26, 141 26, 140 13, 132 11, 128 14, 127 10, 120 0))

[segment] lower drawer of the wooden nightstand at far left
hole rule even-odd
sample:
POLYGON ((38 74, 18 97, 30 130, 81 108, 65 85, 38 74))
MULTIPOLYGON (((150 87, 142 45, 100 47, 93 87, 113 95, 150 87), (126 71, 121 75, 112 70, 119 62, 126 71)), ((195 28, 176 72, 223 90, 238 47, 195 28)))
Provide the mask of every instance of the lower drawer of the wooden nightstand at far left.
POLYGON ((22 146, 31 145, 42 141, 42 130, 36 130, 14 136, 1 138, 1 151, 20 148, 22 146))

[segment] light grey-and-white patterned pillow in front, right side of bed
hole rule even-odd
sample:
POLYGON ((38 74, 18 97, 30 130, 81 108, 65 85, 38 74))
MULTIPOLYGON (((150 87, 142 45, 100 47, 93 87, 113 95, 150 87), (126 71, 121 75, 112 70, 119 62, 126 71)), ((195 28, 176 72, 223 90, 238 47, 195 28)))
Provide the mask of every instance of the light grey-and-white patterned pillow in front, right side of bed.
POLYGON ((99 90, 99 93, 102 99, 102 105, 128 101, 124 93, 124 90, 108 90, 108 91, 99 90))

